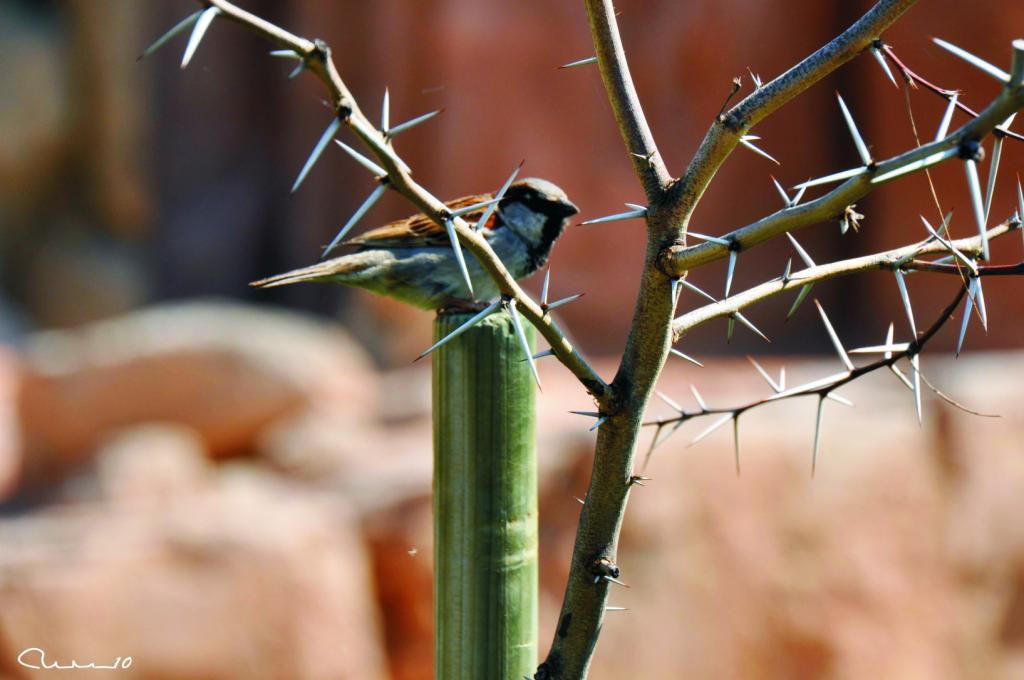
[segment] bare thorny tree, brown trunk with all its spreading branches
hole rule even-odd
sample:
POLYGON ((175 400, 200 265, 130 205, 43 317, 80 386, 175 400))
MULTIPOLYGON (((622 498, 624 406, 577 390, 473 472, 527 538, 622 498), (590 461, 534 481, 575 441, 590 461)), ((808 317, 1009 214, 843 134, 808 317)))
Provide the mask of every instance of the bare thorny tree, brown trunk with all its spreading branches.
MULTIPOLYGON (((822 318, 833 336, 841 358, 844 359, 847 371, 802 388, 776 389, 774 396, 757 402, 726 410, 703 408, 700 413, 682 413, 679 418, 663 421, 658 426, 668 423, 679 424, 688 418, 713 413, 730 414, 735 420, 741 413, 771 400, 808 394, 817 394, 822 399, 825 396, 833 396, 831 393, 838 387, 879 368, 890 367, 895 371, 895 363, 902 357, 911 359, 914 375, 920 376, 920 368, 914 363, 918 354, 951 316, 955 305, 965 295, 969 296, 967 314, 970 314, 970 305, 975 299, 979 313, 984 313, 980 308, 983 303, 980 277, 1024 273, 1024 263, 1005 266, 979 266, 976 263, 978 256, 987 249, 987 239, 994 239, 1013 228, 1021 227, 1021 218, 1024 217, 1024 197, 1022 197, 1019 211, 1021 214, 1016 220, 1007 220, 987 231, 985 224, 981 224, 978 237, 962 239, 951 244, 933 238, 866 257, 820 266, 811 266, 813 263, 808 263, 809 266, 802 270, 792 273, 786 271, 778 279, 731 297, 727 292, 726 299, 703 305, 673 320, 676 283, 684 278, 689 269, 725 257, 730 257, 730 263, 734 264, 737 253, 773 237, 844 214, 848 207, 876 186, 895 179, 904 172, 925 170, 930 165, 955 155, 966 159, 966 164, 969 164, 970 159, 975 158, 977 142, 993 131, 996 135, 1019 136, 996 128, 1004 124, 1011 114, 1024 107, 1024 87, 1021 84, 1024 78, 1024 42, 1014 43, 1014 62, 1009 74, 989 65, 983 63, 979 67, 987 70, 990 75, 995 73, 1000 79, 1001 76, 1006 76, 1005 81, 1008 86, 980 114, 956 100, 955 105, 972 115, 974 120, 955 132, 942 134, 935 142, 885 161, 874 162, 864 159, 865 167, 862 171, 850 175, 851 178, 845 183, 814 201, 798 205, 796 200, 791 202, 786 199, 787 207, 778 212, 721 237, 715 237, 707 243, 687 246, 687 230, 693 210, 718 169, 735 146, 744 141, 745 133, 792 98, 865 50, 876 50, 876 56, 880 61, 882 58, 878 50, 882 50, 882 53, 898 67, 907 82, 922 85, 947 99, 953 98, 951 90, 939 88, 918 76, 895 56, 891 48, 881 42, 885 30, 912 6, 915 0, 880 0, 848 30, 797 66, 767 84, 761 85, 758 81, 753 93, 728 111, 719 114, 683 175, 678 179, 673 179, 666 168, 644 118, 630 76, 611 0, 585 0, 596 60, 630 161, 644 187, 648 204, 645 208, 628 215, 631 217, 642 215, 646 219, 647 249, 630 335, 615 378, 608 384, 569 344, 547 313, 545 305, 538 305, 521 290, 487 242, 460 217, 454 216, 437 198, 412 178, 410 169, 395 153, 387 131, 378 129, 359 110, 339 75, 326 43, 321 40, 310 41, 284 31, 227 0, 198 0, 198 2, 207 12, 215 8, 217 16, 239 23, 278 47, 294 52, 302 66, 312 72, 327 88, 338 123, 347 125, 376 157, 382 169, 380 176, 377 177, 380 186, 398 192, 438 224, 453 225, 458 242, 479 260, 503 296, 514 301, 519 311, 548 340, 553 353, 581 380, 596 399, 600 427, 591 483, 580 518, 555 638, 545 662, 535 676, 539 679, 583 678, 587 674, 600 633, 609 584, 617 583, 614 578, 618 571, 615 566, 616 544, 629 493, 637 480, 633 474, 633 461, 640 428, 643 425, 642 416, 672 342, 688 330, 711 318, 738 314, 740 309, 773 295, 855 271, 890 268, 897 273, 900 283, 903 273, 910 271, 955 273, 963 279, 964 266, 955 259, 952 263, 945 263, 941 260, 930 261, 920 258, 939 253, 947 254, 950 250, 953 250, 953 254, 959 258, 966 258, 965 253, 972 256, 967 262, 971 268, 970 281, 966 282, 968 285, 959 287, 956 299, 930 329, 911 342, 905 343, 899 351, 892 351, 890 348, 885 358, 855 368, 842 349, 838 337, 824 316, 824 311, 821 310, 822 318)), ((212 13, 208 14, 206 25, 208 26, 209 20, 213 18, 215 16, 212 13)), ((203 20, 199 19, 200 23, 203 20)), ((195 46, 190 45, 188 50, 193 49, 195 46)), ((186 51, 186 59, 189 53, 186 51)), ((848 123, 853 128, 852 120, 848 120, 848 123)), ((333 133, 333 130, 329 131, 333 133)), ((856 133, 856 136, 860 148, 863 150, 862 156, 865 156, 866 147, 859 140, 859 133, 856 133)), ((376 167, 372 163, 371 165, 376 167)), ((383 193, 384 188, 379 192, 383 193)), ((977 212, 978 206, 975 208, 977 212)), ((985 212, 987 220, 987 207, 985 212)), ((909 315, 909 302, 906 298, 904 302, 909 315)), ((898 372, 897 375, 902 376, 898 372)), ((905 377, 901 379, 906 382, 905 377)), ((920 389, 915 389, 915 394, 920 405, 920 389)), ((820 408, 818 429, 820 429, 820 408)))

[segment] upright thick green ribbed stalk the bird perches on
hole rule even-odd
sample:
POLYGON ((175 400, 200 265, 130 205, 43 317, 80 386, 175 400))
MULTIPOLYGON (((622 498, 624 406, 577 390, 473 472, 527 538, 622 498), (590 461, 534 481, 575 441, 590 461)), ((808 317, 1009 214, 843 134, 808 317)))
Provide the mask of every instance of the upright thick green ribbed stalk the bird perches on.
MULTIPOLYGON (((438 314, 435 339, 471 316, 438 314)), ((505 311, 434 352, 439 680, 521 680, 537 669, 536 418, 523 358, 505 311)))

